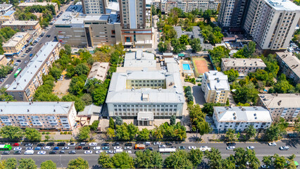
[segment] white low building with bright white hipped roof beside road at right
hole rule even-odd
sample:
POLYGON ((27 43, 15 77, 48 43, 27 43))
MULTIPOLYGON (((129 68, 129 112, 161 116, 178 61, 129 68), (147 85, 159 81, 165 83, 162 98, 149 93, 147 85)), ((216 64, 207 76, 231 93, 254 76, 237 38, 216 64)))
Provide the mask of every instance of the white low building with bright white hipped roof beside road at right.
POLYGON ((213 122, 215 129, 220 132, 228 129, 242 132, 249 125, 253 125, 256 130, 265 130, 270 127, 272 117, 270 111, 261 106, 214 106, 213 122))

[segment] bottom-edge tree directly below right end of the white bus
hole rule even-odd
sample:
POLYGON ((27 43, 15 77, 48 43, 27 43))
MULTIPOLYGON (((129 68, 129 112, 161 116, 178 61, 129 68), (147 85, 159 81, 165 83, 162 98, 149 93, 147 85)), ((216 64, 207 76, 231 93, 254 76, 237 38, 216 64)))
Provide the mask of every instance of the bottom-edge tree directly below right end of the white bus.
POLYGON ((176 151, 165 158, 165 168, 193 168, 193 164, 189 161, 187 151, 176 151))

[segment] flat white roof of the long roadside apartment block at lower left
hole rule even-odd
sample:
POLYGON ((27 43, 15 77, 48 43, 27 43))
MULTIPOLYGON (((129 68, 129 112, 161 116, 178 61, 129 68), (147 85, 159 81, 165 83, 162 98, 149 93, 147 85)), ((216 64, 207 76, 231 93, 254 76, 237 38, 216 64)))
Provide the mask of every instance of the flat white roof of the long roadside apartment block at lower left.
POLYGON ((74 102, 65 101, 0 101, 1 115, 68 115, 74 102))

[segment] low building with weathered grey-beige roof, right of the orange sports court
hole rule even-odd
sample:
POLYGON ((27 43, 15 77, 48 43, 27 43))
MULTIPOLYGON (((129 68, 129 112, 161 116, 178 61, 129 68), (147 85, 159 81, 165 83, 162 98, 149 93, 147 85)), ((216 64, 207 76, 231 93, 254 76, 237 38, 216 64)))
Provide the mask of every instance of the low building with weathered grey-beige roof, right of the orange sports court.
POLYGON ((222 58, 221 64, 222 71, 237 70, 241 78, 258 69, 265 69, 265 67, 267 66, 261 58, 222 58))

